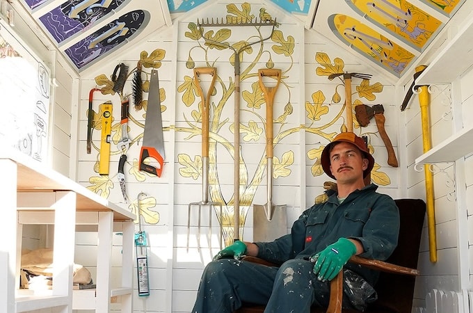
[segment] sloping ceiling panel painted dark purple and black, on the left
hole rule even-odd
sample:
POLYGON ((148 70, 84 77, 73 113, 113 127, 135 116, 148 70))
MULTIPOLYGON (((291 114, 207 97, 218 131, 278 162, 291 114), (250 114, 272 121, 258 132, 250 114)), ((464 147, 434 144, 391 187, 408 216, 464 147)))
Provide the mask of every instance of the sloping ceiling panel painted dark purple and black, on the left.
POLYGON ((22 0, 67 61, 82 72, 166 25, 156 0, 22 0))

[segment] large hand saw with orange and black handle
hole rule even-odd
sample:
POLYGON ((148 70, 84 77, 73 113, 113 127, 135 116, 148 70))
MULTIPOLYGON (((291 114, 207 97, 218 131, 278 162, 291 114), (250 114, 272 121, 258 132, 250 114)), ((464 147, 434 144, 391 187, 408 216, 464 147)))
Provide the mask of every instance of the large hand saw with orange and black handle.
POLYGON ((140 170, 161 177, 164 164, 163 120, 161 119, 161 100, 159 99, 158 71, 151 71, 150 92, 148 93, 145 119, 145 133, 140 152, 140 170), (156 159, 159 168, 145 164, 146 158, 156 159))

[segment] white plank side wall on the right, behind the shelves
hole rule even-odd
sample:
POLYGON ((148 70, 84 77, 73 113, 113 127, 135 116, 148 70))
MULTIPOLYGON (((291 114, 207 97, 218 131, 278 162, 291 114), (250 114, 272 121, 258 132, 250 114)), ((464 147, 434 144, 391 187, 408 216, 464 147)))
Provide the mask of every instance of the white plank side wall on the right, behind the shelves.
MULTIPOLYGON (((452 85, 458 90, 449 90, 451 86, 435 86, 431 88, 431 131, 433 146, 449 138, 454 134, 454 123, 459 123, 460 128, 471 127, 471 113, 473 111, 473 97, 471 89, 471 81, 473 73, 469 72, 459 79, 459 82, 452 85), (460 95, 460 99, 456 99, 452 95, 460 95), (456 101, 449 102, 449 99, 456 101), (460 110, 458 116, 462 120, 451 120, 454 115, 451 113, 451 107, 454 110, 460 110)), ((408 166, 408 194, 412 198, 422 198, 424 195, 424 173, 417 172, 414 169, 414 159, 422 154, 422 133, 420 127, 420 113, 418 107, 417 96, 414 96, 410 104, 410 109, 406 111, 406 137, 408 142, 407 153, 410 157, 408 166)), ((471 155, 465 157, 462 166, 465 172, 459 175, 465 175, 464 178, 456 177, 454 163, 438 163, 434 166, 434 188, 435 188, 435 218, 438 245, 438 262, 433 264, 429 260, 428 254, 428 237, 427 228, 424 227, 421 252, 419 254, 419 268, 421 276, 417 278, 414 303, 417 307, 427 307, 427 312, 470 312, 468 302, 469 297, 462 292, 472 287, 472 275, 470 274, 470 283, 460 282, 458 273, 460 272, 459 264, 470 268, 472 272, 472 239, 471 216, 473 211, 473 180, 468 173, 473 169, 473 158, 471 155), (457 179, 465 179, 465 186, 456 184, 457 179), (451 184, 451 183, 454 184, 451 184), (465 188, 465 192, 459 189, 465 188), (457 197, 462 196, 462 203, 466 203, 467 216, 460 214, 458 209, 457 197), (464 230, 459 229, 461 223, 458 219, 467 218, 467 233, 469 248, 467 255, 469 259, 460 259, 462 254, 458 248, 458 234, 464 230), (467 262, 467 264, 465 264, 467 262), (461 285, 463 284, 463 291, 461 285), (423 299, 426 298, 426 302, 423 299), (453 295, 453 296, 452 296, 453 295)), ((461 181, 460 179, 460 181, 461 181)), ((471 305, 470 305, 471 306, 471 305)))

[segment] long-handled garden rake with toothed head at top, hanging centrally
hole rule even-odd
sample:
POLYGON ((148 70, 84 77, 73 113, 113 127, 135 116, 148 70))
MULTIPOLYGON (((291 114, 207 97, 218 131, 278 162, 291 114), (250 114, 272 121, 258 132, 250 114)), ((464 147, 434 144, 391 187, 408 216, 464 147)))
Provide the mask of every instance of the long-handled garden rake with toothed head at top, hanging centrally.
POLYGON ((199 27, 200 32, 202 33, 202 38, 205 38, 206 42, 211 43, 212 45, 218 45, 227 49, 232 49, 234 51, 234 230, 233 230, 233 240, 237 241, 240 239, 240 54, 243 53, 248 47, 255 45, 259 42, 264 42, 265 40, 270 39, 274 33, 274 27, 278 25, 276 19, 246 19, 246 18, 227 18, 225 21, 223 18, 216 22, 214 19, 207 19, 207 22, 197 21, 197 26, 199 27), (239 48, 232 47, 228 42, 218 42, 212 40, 210 37, 205 37, 203 35, 202 26, 209 27, 220 27, 220 26, 272 26, 271 33, 268 37, 259 38, 255 42, 248 42, 246 45, 242 45, 239 48))

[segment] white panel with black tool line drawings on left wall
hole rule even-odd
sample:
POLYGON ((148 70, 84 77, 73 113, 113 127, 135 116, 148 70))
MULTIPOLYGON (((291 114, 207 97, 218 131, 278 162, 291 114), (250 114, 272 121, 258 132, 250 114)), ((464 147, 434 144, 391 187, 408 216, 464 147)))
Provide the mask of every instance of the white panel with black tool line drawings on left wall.
POLYGON ((0 137, 38 161, 47 159, 49 70, 5 28, 0 29, 0 137))

